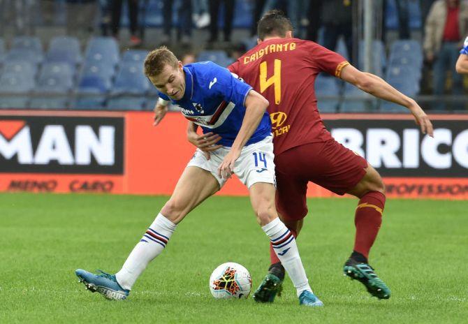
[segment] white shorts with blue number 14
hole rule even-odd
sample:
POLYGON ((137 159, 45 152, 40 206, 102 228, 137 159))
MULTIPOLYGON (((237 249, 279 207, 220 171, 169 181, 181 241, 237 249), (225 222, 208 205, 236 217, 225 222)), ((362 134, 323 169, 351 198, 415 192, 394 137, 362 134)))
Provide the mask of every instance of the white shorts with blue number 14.
MULTIPOLYGON (((243 147, 239 159, 235 161, 234 173, 247 188, 250 188, 256 182, 276 185, 275 162, 273 162, 275 155, 273 154, 272 140, 272 136, 267 136, 260 142, 243 147)), ((203 151, 196 149, 187 167, 197 166, 203 170, 210 171, 218 180, 219 188, 222 188, 226 183, 226 179, 219 177, 218 168, 224 156, 230 150, 231 147, 221 147, 216 151, 210 152, 210 160, 207 160, 203 151)))

